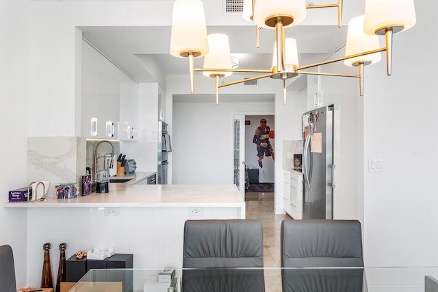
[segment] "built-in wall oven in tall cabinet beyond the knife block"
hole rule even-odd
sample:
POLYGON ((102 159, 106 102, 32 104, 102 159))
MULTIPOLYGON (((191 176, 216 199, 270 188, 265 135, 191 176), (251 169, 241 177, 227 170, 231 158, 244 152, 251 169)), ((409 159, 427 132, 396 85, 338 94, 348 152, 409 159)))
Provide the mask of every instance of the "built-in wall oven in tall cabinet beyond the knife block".
POLYGON ((164 121, 158 122, 159 137, 158 140, 158 168, 157 168, 157 184, 168 183, 168 153, 172 151, 170 144, 169 125, 164 121))

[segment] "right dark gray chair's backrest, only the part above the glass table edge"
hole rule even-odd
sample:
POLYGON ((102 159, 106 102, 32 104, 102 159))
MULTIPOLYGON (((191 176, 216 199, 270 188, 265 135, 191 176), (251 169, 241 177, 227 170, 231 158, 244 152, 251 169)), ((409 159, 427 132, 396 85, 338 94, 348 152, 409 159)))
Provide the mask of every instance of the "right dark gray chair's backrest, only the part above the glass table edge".
POLYGON ((281 267, 363 267, 357 220, 285 220, 281 267))

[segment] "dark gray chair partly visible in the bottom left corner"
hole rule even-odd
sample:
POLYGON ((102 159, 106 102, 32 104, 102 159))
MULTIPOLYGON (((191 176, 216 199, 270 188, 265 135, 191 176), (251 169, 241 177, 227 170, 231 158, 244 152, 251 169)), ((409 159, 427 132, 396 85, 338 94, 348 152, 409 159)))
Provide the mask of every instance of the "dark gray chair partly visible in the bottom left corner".
POLYGON ((16 292, 14 255, 10 245, 0 246, 0 291, 16 292))

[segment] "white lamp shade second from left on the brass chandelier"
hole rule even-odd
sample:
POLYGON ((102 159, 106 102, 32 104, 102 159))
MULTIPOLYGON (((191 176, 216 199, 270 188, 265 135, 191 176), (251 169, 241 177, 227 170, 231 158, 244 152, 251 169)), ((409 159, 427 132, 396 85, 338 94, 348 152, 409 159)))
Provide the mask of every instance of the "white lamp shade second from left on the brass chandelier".
MULTIPOLYGON (((204 57, 204 69, 231 69, 231 54, 229 39, 226 34, 209 34, 208 44, 210 51, 204 57)), ((229 76, 233 72, 205 71, 205 76, 229 76)))

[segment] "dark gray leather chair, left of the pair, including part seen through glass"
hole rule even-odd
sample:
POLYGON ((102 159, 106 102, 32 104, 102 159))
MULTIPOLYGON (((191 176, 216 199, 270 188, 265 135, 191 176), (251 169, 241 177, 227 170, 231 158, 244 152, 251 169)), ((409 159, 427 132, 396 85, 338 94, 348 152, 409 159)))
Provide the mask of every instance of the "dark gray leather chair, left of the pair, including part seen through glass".
POLYGON ((188 220, 184 226, 183 292, 264 292, 259 220, 188 220), (202 268, 202 269, 201 269, 202 268), (227 269, 229 268, 229 269, 227 269))

